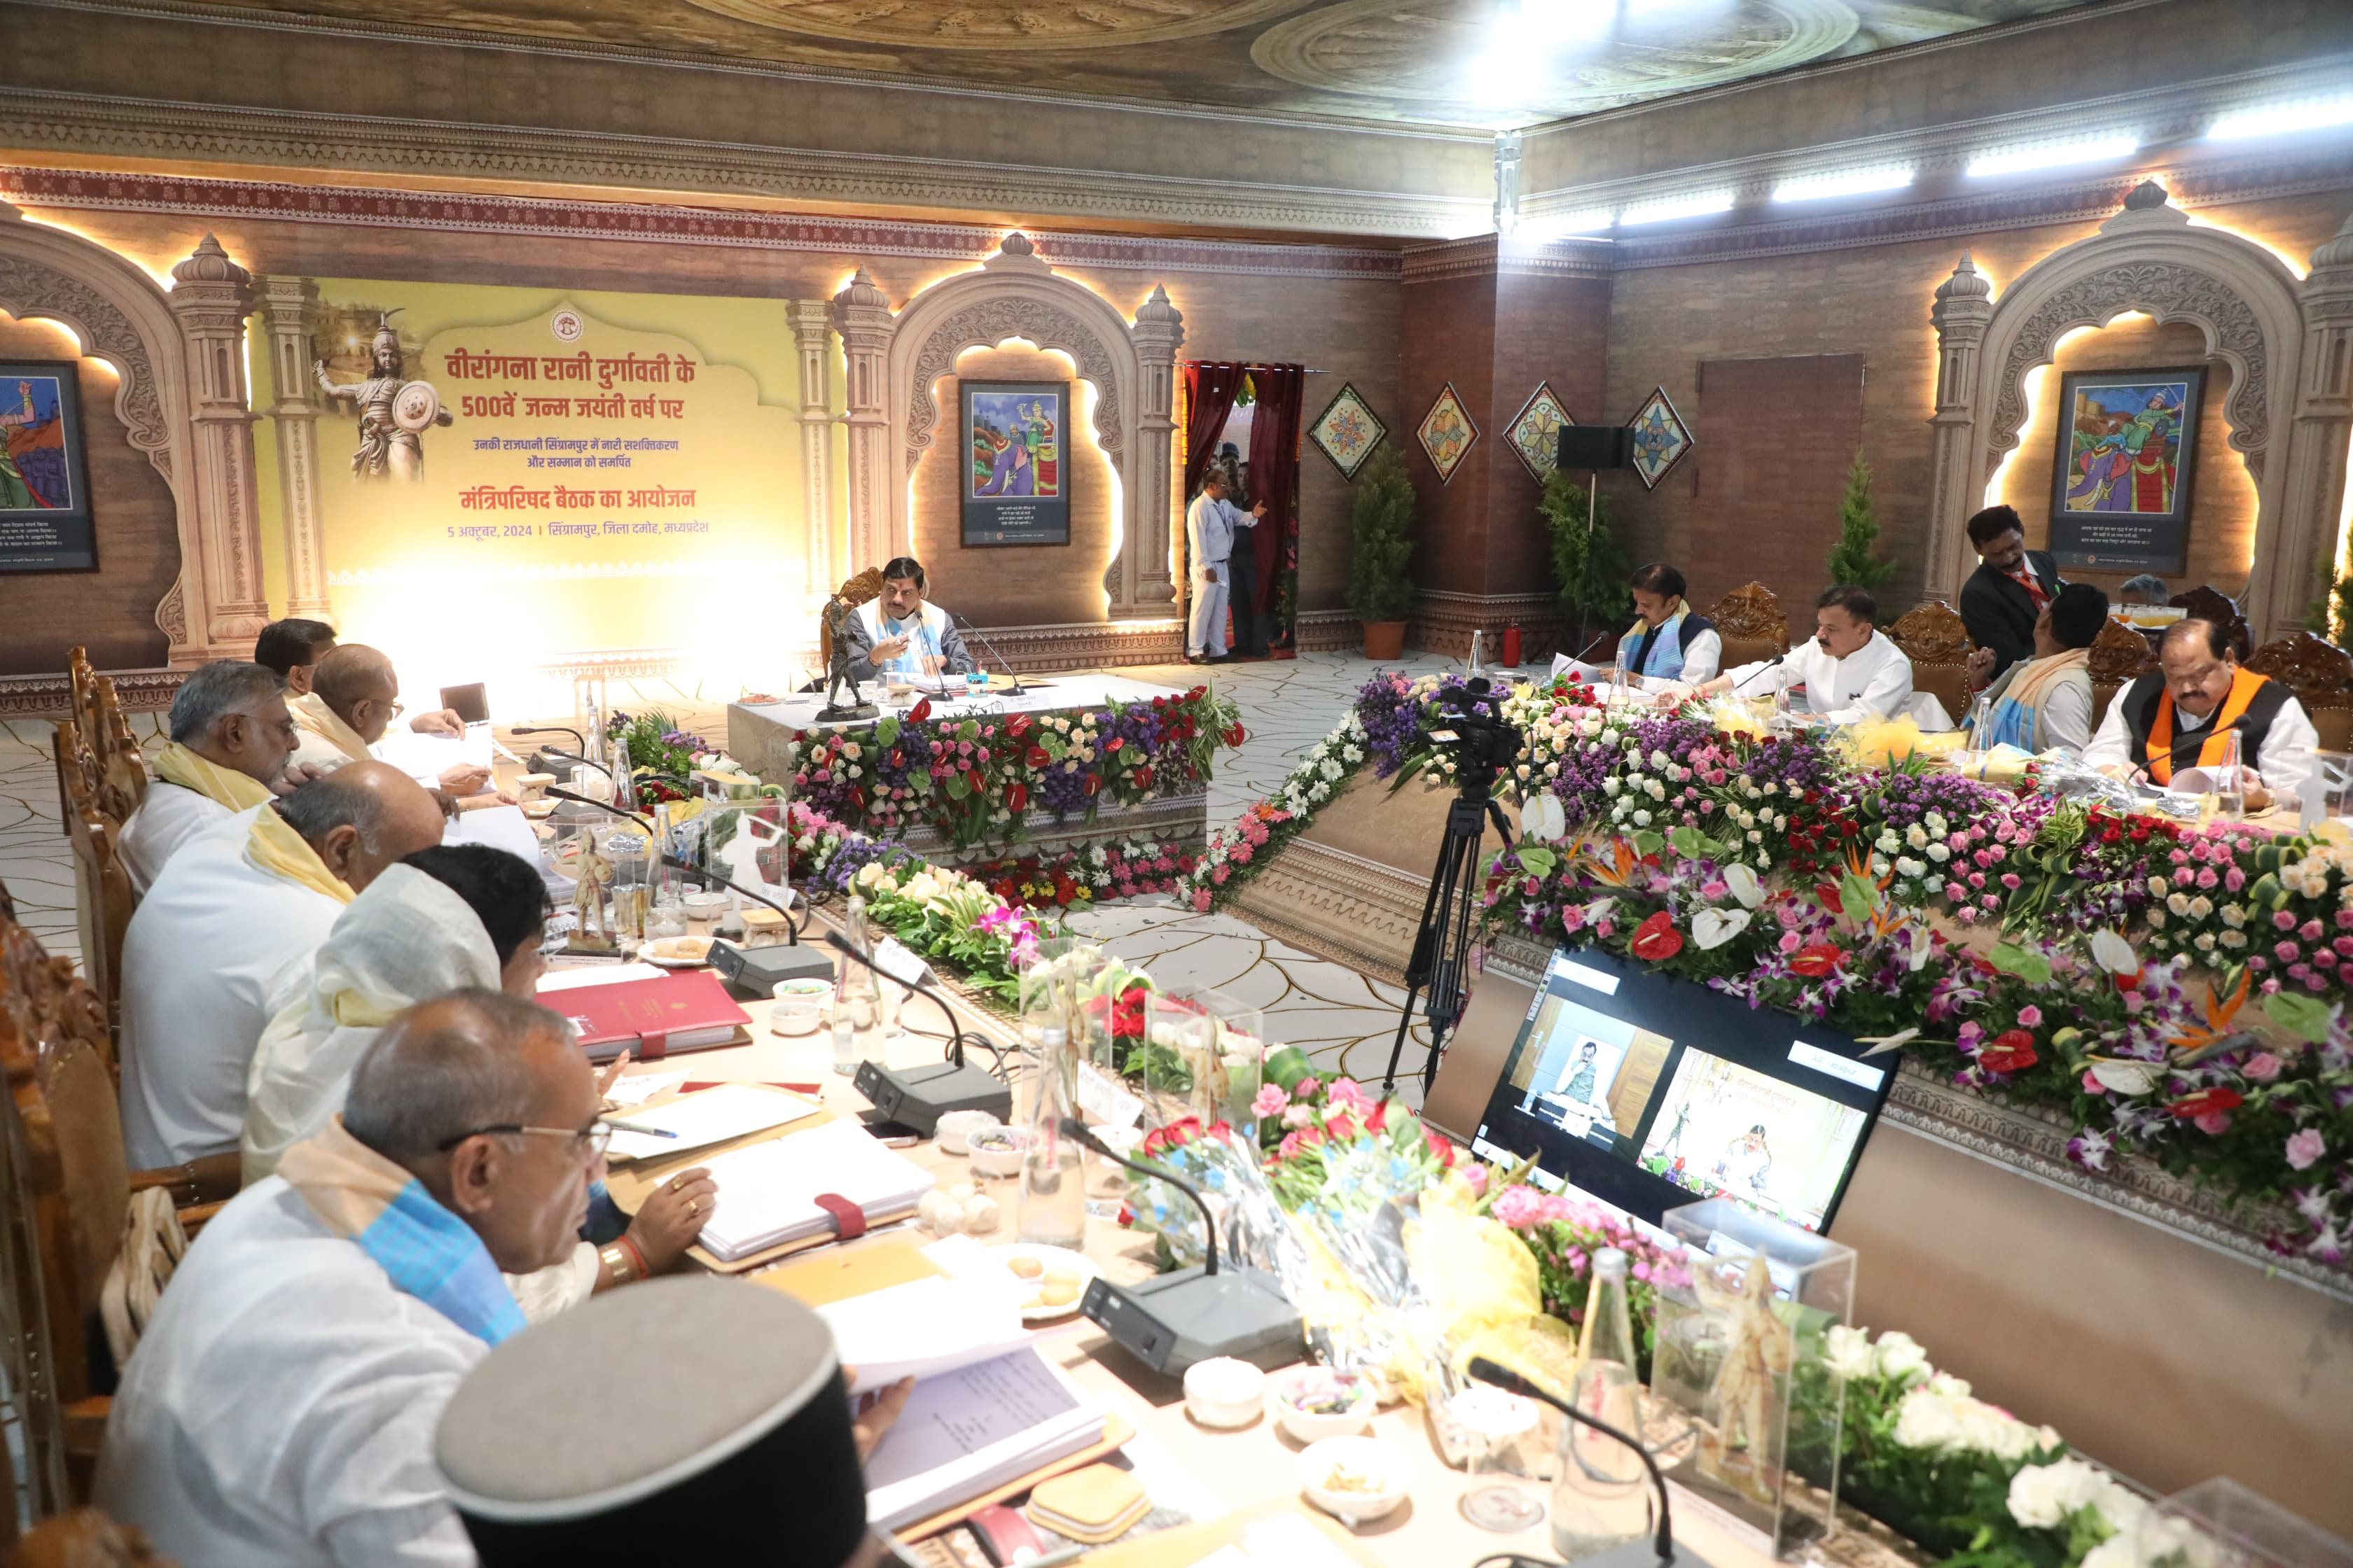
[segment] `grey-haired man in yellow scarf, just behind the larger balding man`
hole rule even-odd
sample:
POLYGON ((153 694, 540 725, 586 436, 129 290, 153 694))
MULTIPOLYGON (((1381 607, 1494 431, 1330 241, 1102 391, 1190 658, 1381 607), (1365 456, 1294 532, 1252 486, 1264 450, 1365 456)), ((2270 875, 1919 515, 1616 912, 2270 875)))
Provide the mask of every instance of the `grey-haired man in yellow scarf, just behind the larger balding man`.
POLYGON ((165 860, 207 827, 252 811, 285 790, 294 719, 264 665, 216 661, 181 682, 172 698, 172 743, 151 759, 146 802, 122 825, 122 865, 146 893, 165 860))

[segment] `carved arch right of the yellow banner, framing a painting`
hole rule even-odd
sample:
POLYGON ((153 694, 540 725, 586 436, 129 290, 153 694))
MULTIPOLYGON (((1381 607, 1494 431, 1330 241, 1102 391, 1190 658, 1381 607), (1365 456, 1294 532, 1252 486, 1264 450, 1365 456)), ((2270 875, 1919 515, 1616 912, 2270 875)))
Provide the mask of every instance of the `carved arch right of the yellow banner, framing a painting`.
POLYGON ((1169 447, 1184 317, 1167 292, 1153 289, 1129 322, 1012 233, 979 270, 932 284, 896 313, 859 270, 833 299, 833 317, 849 369, 852 569, 911 548, 908 480, 939 428, 939 378, 967 348, 1024 339, 1071 355, 1094 388, 1094 440, 1120 477, 1108 616, 1174 614, 1169 447))

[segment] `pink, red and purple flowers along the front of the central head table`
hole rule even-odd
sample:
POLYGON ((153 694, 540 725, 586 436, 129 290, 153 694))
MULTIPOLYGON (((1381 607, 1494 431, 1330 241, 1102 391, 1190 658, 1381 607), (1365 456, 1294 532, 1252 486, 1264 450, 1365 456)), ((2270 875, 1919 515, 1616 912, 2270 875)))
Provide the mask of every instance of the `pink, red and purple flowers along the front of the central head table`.
POLYGON ((1221 745, 1245 741, 1228 698, 1207 686, 1080 715, 932 717, 929 698, 871 729, 795 736, 795 795, 880 835, 936 827, 958 846, 1012 844, 1031 811, 1094 820, 1209 778, 1221 745))

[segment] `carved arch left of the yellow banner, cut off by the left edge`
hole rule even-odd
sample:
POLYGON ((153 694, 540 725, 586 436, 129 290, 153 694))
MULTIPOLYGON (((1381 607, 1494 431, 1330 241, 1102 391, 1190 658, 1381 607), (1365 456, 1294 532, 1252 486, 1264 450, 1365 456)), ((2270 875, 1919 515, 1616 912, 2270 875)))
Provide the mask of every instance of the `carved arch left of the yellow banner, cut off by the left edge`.
POLYGON ((155 625, 174 665, 245 658, 268 618, 245 395, 249 284, 212 235, 165 292, 104 244, 0 202, 0 310, 71 327, 85 355, 115 369, 127 440, 172 489, 179 581, 155 625))

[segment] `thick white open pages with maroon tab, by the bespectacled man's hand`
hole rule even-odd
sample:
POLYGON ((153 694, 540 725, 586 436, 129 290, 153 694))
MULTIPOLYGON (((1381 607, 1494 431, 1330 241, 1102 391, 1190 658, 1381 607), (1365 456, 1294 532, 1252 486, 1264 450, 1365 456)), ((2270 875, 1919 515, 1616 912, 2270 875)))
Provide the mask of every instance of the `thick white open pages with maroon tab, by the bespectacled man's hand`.
POLYGON ((878 1220, 913 1208, 934 1182, 854 1121, 729 1150, 711 1161, 711 1180, 720 1192, 699 1239, 720 1262, 835 1229, 819 1194, 840 1194, 878 1220))

